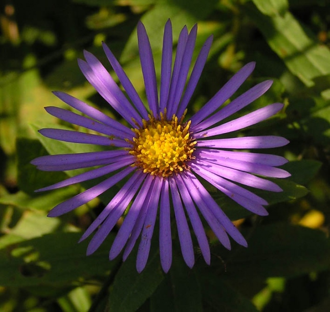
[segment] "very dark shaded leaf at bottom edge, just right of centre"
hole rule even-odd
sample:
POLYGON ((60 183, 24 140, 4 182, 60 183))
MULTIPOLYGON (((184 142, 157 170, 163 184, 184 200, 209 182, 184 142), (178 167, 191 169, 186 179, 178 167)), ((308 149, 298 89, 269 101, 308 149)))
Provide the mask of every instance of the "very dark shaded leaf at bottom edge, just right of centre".
POLYGON ((221 277, 205 270, 200 272, 199 280, 203 300, 215 311, 226 312, 257 312, 257 308, 245 296, 226 283, 221 277))

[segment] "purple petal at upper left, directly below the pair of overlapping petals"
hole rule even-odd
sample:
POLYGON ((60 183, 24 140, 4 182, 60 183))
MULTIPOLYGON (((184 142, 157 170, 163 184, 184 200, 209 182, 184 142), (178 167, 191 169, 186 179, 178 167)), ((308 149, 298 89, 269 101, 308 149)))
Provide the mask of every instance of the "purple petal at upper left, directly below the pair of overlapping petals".
MULTIPOLYGON (((96 108, 86 104, 85 102, 82 102, 82 101, 76 99, 75 97, 73 97, 69 94, 63 93, 63 92, 55 91, 55 92, 53 92, 53 94, 55 96, 57 96, 60 100, 62 100, 64 103, 67 103, 71 107, 79 110, 79 112, 85 114, 86 116, 91 117, 95 120, 98 120, 98 121, 106 124, 109 127, 113 127, 116 130, 122 131, 123 133, 126 133, 127 135, 131 136, 132 132, 129 128, 127 128, 126 126, 124 126, 123 124, 118 122, 117 120, 114 120, 114 119, 108 117, 107 115, 103 114, 96 108)), ((126 138, 127 135, 125 136, 123 134, 122 138, 123 139, 126 138)))

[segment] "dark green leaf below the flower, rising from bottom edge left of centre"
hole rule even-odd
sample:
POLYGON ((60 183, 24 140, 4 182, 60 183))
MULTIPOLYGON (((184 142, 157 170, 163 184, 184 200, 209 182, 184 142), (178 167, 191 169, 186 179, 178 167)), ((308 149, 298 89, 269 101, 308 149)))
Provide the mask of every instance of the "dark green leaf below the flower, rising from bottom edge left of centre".
POLYGON ((136 252, 129 255, 116 275, 109 296, 108 312, 135 312, 163 279, 158 250, 151 246, 147 265, 141 273, 136 270, 136 252))

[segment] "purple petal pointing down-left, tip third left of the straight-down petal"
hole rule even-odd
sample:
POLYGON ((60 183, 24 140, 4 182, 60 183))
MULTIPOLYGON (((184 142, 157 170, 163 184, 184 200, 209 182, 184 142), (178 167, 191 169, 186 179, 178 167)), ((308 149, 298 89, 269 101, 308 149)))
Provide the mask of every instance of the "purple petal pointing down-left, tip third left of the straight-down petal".
POLYGON ((136 221, 138 219, 139 213, 142 209, 142 205, 145 202, 145 198, 148 194, 148 191, 150 189, 150 185, 152 182, 152 177, 148 175, 137 195, 135 198, 133 204, 129 208, 129 211, 124 219, 123 224, 121 225, 119 232, 116 235, 116 238, 112 244, 111 250, 109 252, 109 259, 113 260, 116 258, 119 253, 124 248, 127 239, 133 230, 136 221))

